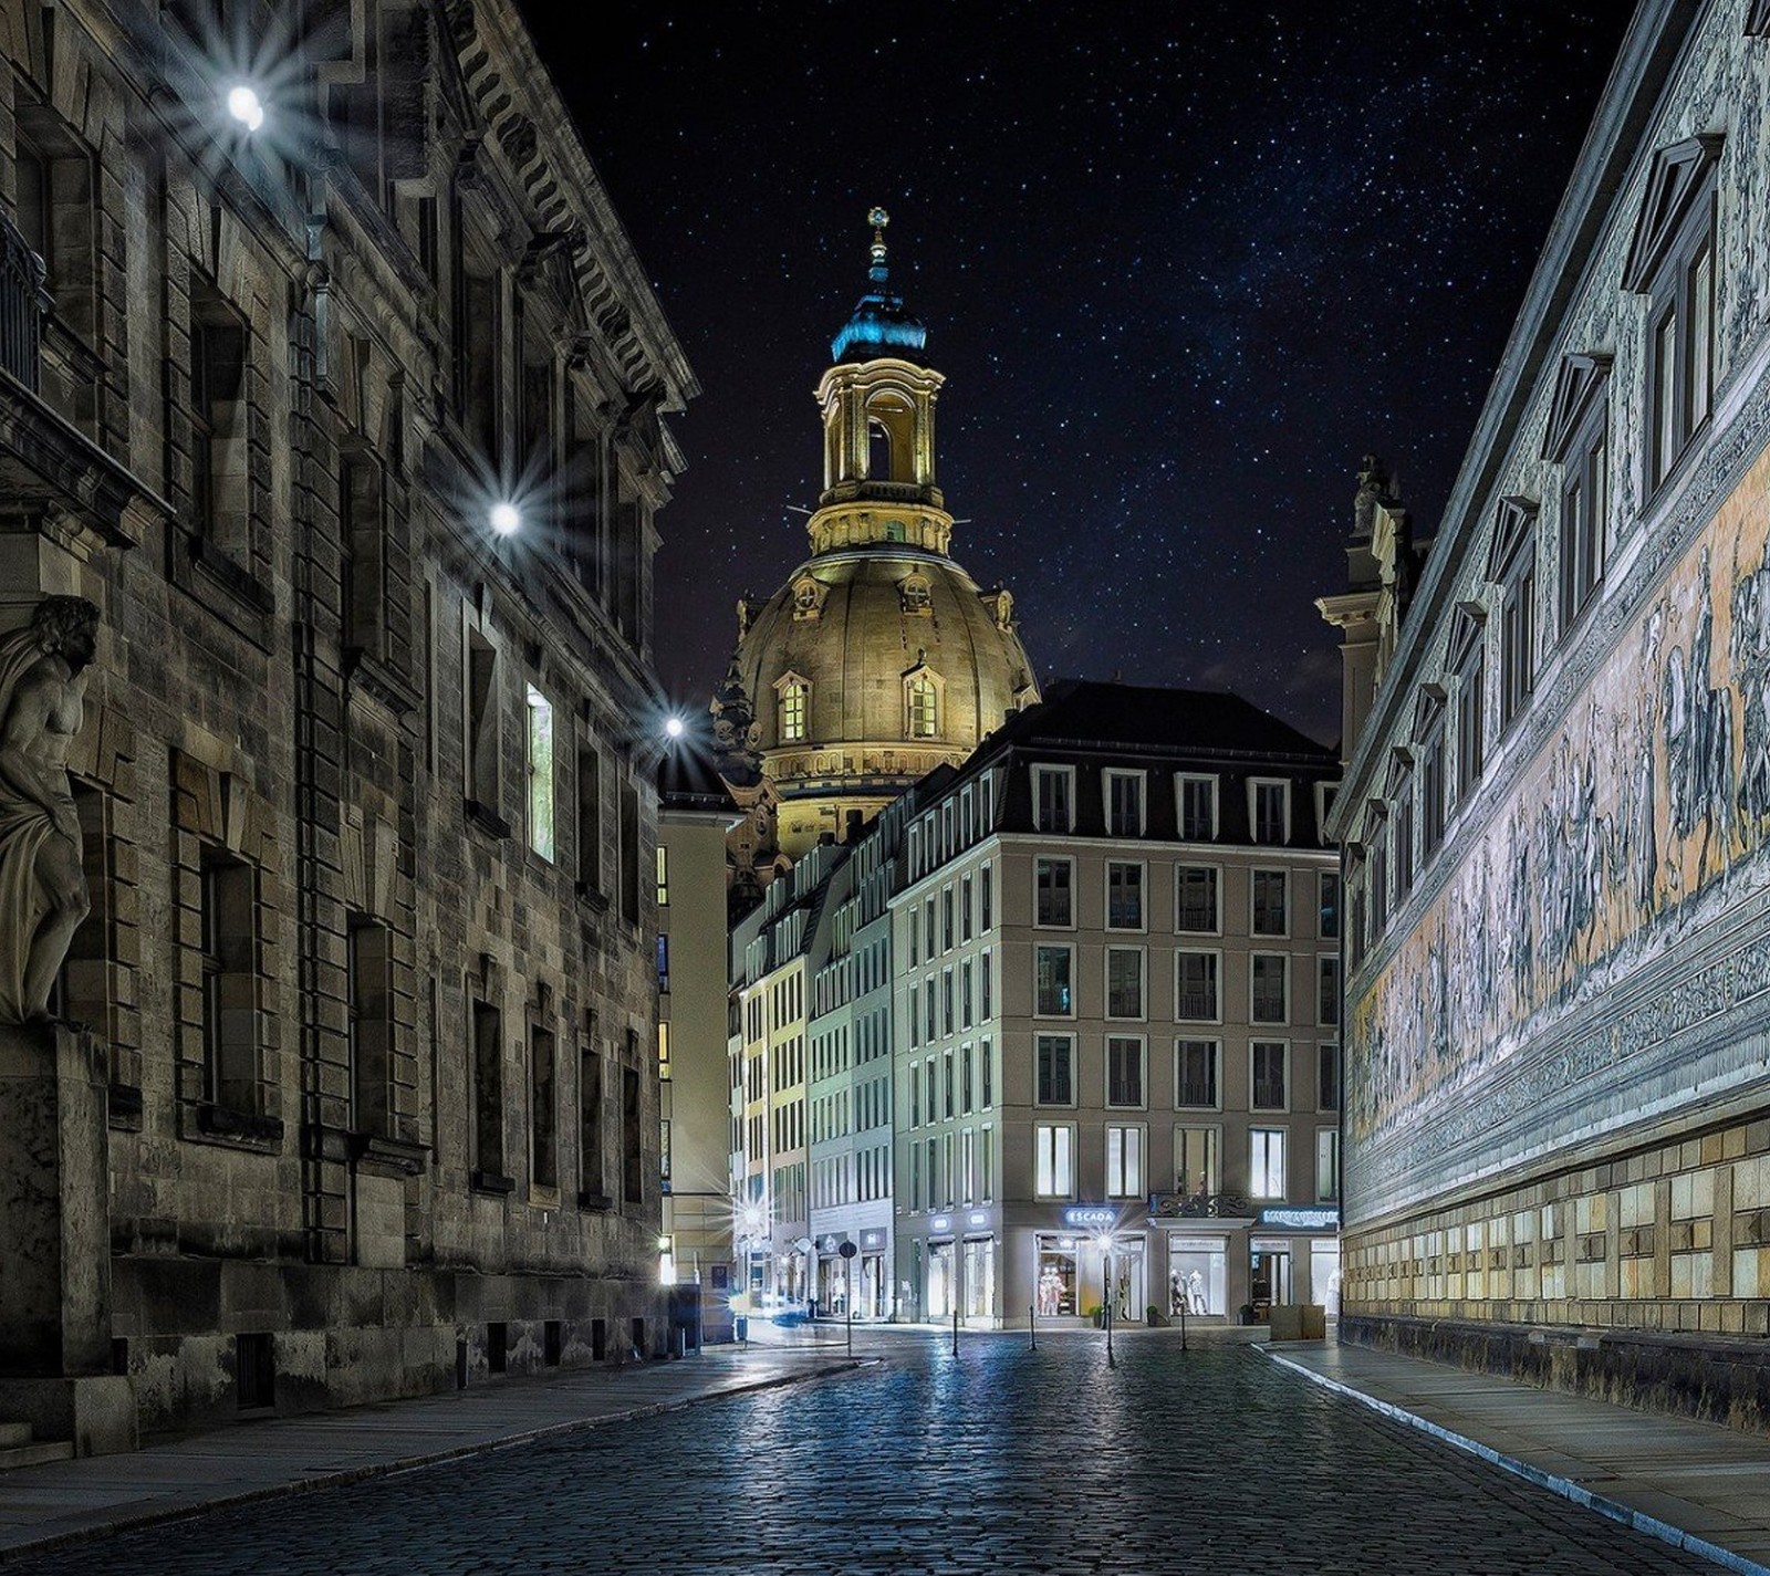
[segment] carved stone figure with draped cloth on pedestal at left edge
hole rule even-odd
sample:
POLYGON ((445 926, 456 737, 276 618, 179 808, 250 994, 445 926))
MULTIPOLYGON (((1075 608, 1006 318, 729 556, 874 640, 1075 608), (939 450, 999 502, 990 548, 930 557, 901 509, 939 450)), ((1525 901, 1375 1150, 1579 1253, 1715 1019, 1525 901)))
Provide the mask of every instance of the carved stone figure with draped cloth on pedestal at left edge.
POLYGON ((99 610, 48 596, 0 639, 0 1024, 41 1022, 90 899, 67 746, 80 732, 99 610))

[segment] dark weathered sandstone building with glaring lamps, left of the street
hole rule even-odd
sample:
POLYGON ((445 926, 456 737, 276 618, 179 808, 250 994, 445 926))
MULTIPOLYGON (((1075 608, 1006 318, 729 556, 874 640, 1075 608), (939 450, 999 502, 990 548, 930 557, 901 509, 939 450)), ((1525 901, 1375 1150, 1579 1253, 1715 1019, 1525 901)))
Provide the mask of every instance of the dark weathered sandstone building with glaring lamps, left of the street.
POLYGON ((515 9, 4 4, 0 103, 0 630, 101 614, 88 1033, 0 1029, 64 1139, 0 1415, 108 1449, 660 1350, 696 386, 515 9))

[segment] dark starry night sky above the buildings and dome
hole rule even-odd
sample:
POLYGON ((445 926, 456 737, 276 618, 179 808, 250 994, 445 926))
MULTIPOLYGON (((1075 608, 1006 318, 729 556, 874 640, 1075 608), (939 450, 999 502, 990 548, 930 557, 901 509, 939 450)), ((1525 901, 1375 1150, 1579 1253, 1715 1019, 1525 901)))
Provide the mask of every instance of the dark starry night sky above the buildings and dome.
POLYGON ((949 379, 954 557, 1039 677, 1322 739, 1358 458, 1430 532, 1632 5, 527 0, 703 394, 657 654, 701 706, 805 555, 866 210, 949 379))

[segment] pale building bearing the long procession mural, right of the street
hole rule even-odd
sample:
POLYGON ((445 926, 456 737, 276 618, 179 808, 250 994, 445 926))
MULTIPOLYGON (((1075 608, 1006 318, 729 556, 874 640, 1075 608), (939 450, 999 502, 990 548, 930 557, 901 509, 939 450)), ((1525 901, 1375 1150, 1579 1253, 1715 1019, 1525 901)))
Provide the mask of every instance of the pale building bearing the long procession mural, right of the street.
POLYGON ((1751 1427, 1766 96, 1770 7, 1635 11, 1411 607, 1349 658, 1333 822, 1342 1334, 1751 1427))

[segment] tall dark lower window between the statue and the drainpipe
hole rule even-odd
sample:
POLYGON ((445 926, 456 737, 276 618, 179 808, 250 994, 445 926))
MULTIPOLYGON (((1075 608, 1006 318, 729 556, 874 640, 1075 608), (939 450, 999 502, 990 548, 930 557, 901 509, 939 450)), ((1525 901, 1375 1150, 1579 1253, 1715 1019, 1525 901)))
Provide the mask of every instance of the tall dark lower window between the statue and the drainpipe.
POLYGON ((258 1109, 258 874, 202 851, 204 1097, 258 1109))

